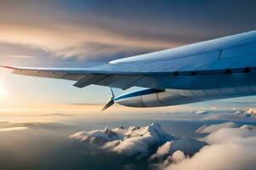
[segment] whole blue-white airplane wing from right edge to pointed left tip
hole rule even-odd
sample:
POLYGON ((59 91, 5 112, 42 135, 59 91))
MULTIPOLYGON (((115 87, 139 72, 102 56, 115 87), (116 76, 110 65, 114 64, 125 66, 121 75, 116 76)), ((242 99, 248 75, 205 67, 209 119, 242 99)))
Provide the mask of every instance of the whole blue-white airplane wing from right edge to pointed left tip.
POLYGON ((195 84, 214 75, 256 71, 256 32, 117 59, 89 68, 3 67, 20 75, 76 81, 73 86, 78 88, 90 84, 122 89, 133 86, 155 89, 201 88, 195 84))

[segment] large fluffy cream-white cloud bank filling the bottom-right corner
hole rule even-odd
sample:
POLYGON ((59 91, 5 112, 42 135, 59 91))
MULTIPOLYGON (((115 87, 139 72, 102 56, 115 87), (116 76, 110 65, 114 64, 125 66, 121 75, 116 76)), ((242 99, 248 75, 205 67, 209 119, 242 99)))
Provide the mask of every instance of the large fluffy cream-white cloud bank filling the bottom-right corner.
POLYGON ((256 132, 250 128, 222 127, 204 140, 211 145, 203 147, 195 156, 170 164, 166 169, 253 170, 256 166, 256 132))

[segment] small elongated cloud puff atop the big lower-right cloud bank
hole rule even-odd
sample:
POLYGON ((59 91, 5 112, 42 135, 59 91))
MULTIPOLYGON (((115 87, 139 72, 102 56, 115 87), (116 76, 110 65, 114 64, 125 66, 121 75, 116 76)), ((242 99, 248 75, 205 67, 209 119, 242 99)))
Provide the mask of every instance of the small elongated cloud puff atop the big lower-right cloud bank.
POLYGON ((203 125, 196 130, 196 133, 213 133, 223 127, 236 127, 234 122, 224 122, 220 124, 203 125))

